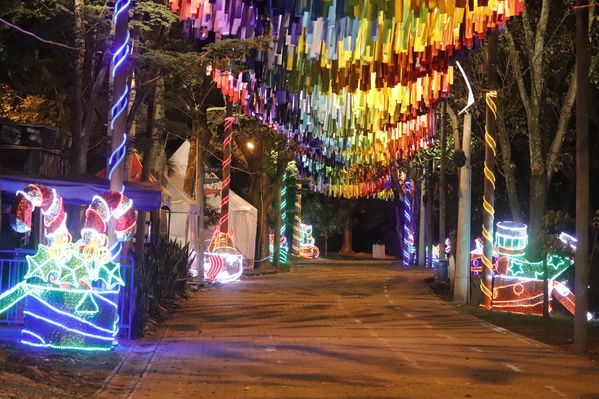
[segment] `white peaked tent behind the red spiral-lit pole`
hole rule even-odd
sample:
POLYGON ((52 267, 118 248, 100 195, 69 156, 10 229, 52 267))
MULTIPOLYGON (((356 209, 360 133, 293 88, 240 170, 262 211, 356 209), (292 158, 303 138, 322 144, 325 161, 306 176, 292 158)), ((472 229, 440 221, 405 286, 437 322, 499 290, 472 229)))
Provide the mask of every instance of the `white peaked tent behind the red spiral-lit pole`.
MULTIPOLYGON (((191 232, 189 229, 193 226, 191 228, 193 228, 194 234, 195 231, 197 231, 197 225, 195 223, 197 217, 195 214, 198 213, 199 204, 189 198, 189 196, 182 190, 183 182, 185 180, 185 171, 187 170, 189 148, 189 141, 186 140, 171 156, 171 171, 167 179, 167 190, 171 194, 171 238, 186 240, 187 242, 190 242, 190 246, 192 246, 192 235, 190 234, 191 232), (172 190, 169 187, 172 187, 172 190), (177 212, 175 212, 175 207, 178 207, 177 209, 179 209, 177 212), (186 212, 189 214, 188 217, 184 216, 186 212), (179 219, 175 219, 176 215, 181 216, 179 219), (194 216, 192 217, 192 215, 194 216), (175 220, 177 220, 177 222, 175 222, 175 220), (175 225, 178 226, 173 229, 175 225)), ((220 212, 220 179, 214 173, 206 173, 205 180, 204 192, 206 194, 206 205, 215 208, 220 212)), ((235 246, 237 247, 237 250, 243 254, 248 267, 252 268, 256 250, 258 211, 249 202, 245 201, 232 190, 230 196, 229 225, 233 228, 235 234, 235 246)), ((212 237, 214 229, 215 226, 206 226, 202 238, 204 240, 209 240, 210 237, 212 237)), ((193 235, 193 237, 195 237, 195 235, 193 235)), ((193 240, 195 241, 195 239, 193 240)), ((195 248, 195 244, 193 245, 193 248, 195 248)))

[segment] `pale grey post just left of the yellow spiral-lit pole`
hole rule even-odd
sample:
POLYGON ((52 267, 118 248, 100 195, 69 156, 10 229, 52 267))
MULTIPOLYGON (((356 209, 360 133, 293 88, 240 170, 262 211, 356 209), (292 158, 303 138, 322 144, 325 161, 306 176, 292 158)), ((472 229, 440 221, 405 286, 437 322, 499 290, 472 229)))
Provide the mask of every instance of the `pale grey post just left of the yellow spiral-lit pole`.
POLYGON ((458 190, 458 237, 456 244, 455 285, 453 300, 468 303, 470 286, 470 224, 472 197, 472 169, 470 164, 470 135, 472 119, 469 113, 464 114, 464 134, 462 150, 466 156, 466 164, 460 171, 460 187, 458 190))

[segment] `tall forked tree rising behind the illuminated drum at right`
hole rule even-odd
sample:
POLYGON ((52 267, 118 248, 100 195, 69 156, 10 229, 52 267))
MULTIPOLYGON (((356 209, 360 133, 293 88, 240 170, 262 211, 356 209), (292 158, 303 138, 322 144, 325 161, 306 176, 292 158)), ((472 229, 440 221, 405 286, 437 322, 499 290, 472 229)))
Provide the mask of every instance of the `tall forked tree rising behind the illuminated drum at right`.
MULTIPOLYGON (((529 248, 534 258, 541 256, 537 248, 537 238, 543 228, 549 183, 567 133, 576 92, 572 57, 562 58, 559 65, 555 63, 555 57, 563 56, 565 51, 571 51, 567 48, 567 42, 561 43, 562 40, 558 43, 553 40, 556 34, 566 29, 557 21, 564 12, 561 3, 550 0, 541 0, 540 4, 539 1, 525 2, 521 17, 508 23, 503 35, 511 76, 526 115, 530 159, 529 248), (548 34, 549 26, 555 30, 551 35, 548 34), (552 51, 549 52, 548 49, 552 51), (565 87, 557 85, 553 88, 550 85, 555 74, 562 76, 563 81, 567 82, 565 87), (559 98, 557 102, 554 101, 556 97, 559 98), (555 123, 552 123, 552 118, 545 117, 552 109, 556 109, 558 114, 555 123)), ((500 124, 504 120, 500 120, 500 124)), ((500 140, 505 144, 501 125, 500 140)), ((510 166, 508 154, 504 155, 504 164, 510 166)))

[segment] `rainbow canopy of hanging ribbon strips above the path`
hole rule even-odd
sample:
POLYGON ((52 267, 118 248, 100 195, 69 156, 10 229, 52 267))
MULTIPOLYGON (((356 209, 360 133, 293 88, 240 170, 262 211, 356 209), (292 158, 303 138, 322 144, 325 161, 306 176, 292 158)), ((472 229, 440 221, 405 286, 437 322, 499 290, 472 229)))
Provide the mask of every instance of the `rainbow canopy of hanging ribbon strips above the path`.
POLYGON ((434 144, 434 108, 450 93, 456 60, 523 9, 523 0, 171 4, 194 38, 272 37, 242 73, 210 68, 213 80, 300 144, 302 176, 344 197, 387 190, 390 166, 434 144), (349 173, 359 165, 370 171, 349 173))

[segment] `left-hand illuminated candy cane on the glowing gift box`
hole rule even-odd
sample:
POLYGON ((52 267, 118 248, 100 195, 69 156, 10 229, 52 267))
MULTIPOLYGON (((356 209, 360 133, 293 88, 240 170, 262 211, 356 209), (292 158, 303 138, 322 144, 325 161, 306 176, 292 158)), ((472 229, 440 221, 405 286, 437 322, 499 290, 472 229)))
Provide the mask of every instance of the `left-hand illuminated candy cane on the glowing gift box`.
POLYGON ((16 232, 25 233, 31 230, 31 215, 35 208, 40 208, 44 215, 44 227, 48 237, 53 237, 60 231, 66 232, 67 216, 62 197, 55 189, 36 184, 30 184, 23 191, 17 191, 12 207, 12 214, 15 216, 12 227, 16 232))

